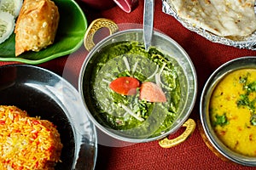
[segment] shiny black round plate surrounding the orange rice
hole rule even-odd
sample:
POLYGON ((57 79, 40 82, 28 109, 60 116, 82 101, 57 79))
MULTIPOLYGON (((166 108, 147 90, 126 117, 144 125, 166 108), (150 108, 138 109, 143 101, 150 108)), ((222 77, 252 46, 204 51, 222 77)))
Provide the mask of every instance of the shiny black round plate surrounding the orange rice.
POLYGON ((56 126, 63 148, 55 169, 94 169, 96 129, 70 83, 37 66, 3 65, 0 96, 0 105, 15 105, 29 116, 40 116, 56 126))

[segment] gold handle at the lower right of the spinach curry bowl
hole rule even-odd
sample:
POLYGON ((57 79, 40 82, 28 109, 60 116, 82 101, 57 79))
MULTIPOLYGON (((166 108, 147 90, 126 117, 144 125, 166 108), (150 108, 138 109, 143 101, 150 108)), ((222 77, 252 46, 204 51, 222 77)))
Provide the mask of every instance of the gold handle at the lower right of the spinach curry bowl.
POLYGON ((186 139, 189 138, 190 134, 192 134, 195 130, 195 121, 193 119, 188 119, 184 122, 183 127, 186 127, 186 130, 179 135, 176 139, 168 139, 167 137, 164 139, 160 139, 159 144, 162 148, 172 148, 177 144, 183 143, 186 139))

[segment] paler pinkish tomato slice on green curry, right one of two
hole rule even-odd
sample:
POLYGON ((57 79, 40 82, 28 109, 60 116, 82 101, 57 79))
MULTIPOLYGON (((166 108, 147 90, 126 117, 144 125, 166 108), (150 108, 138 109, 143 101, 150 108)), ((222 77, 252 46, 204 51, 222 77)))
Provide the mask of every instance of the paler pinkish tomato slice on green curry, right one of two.
POLYGON ((149 102, 166 102, 166 94, 154 82, 143 82, 140 89, 140 99, 149 102))

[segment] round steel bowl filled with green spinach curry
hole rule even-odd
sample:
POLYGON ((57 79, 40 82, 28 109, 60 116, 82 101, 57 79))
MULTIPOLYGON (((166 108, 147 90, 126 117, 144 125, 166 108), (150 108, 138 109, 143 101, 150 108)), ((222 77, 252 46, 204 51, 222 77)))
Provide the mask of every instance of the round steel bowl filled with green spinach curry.
MULTIPOLYGON (((103 26, 107 25, 105 20, 97 20, 97 22, 103 23, 103 26)), ((99 27, 101 26, 96 26, 96 28, 99 27)), ((114 27, 112 23, 109 30, 113 31, 114 27)), ((91 28, 95 30, 93 26, 90 26, 87 36, 93 39, 93 36, 90 35, 91 28)), ((92 43, 86 44, 86 41, 85 39, 85 48, 90 47, 91 50, 80 71, 79 93, 84 101, 87 114, 96 127, 114 139, 139 143, 162 139, 183 126, 195 104, 197 80, 195 68, 189 55, 177 42, 154 31, 152 47, 149 52, 146 52, 143 45, 142 29, 114 32, 94 47, 91 46, 92 43), (158 65, 145 56, 155 56, 159 61, 163 59, 166 64, 160 64, 159 68, 156 68, 158 65), (165 67, 165 65, 169 67, 165 67), (118 94, 108 86, 113 79, 119 77, 136 77, 139 83, 143 83, 150 82, 145 77, 151 75, 152 82, 155 79, 164 82, 164 77, 161 75, 160 78, 155 78, 157 77, 155 76, 156 72, 163 72, 161 68, 165 72, 166 68, 169 68, 171 73, 166 76, 166 79, 177 80, 177 83, 174 81, 174 85, 172 84, 172 89, 174 89, 172 101, 168 98, 169 94, 166 94, 167 102, 163 105, 160 102, 144 103, 150 105, 148 108, 151 108, 151 114, 143 112, 146 110, 146 106, 143 105, 143 99, 139 99, 137 96, 138 92, 135 95, 118 94), (130 73, 131 75, 128 76, 130 73), (177 88, 178 90, 175 91, 177 88), (167 104, 168 106, 165 106, 167 104), (172 111, 169 104, 173 106, 172 111), (160 109, 160 107, 164 109, 160 109), (166 111, 167 107, 170 109, 169 111, 166 111), (135 111, 136 108, 140 111, 135 111)), ((136 91, 142 88, 134 89, 136 91)), ((150 112, 149 109, 147 111, 150 112)))

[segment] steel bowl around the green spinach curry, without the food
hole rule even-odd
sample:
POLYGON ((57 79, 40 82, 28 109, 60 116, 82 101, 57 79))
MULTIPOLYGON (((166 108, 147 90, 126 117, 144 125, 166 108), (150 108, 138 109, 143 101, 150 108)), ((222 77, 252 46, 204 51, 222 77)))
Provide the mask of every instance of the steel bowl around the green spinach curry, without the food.
MULTIPOLYGON (((103 26, 106 26, 106 20, 98 20, 98 22, 103 23, 103 26)), ((90 26, 88 31, 91 28, 94 31, 95 28, 101 28, 102 26, 90 26)), ((111 24, 109 30, 113 31, 115 26, 111 24)), ((88 32, 87 32, 88 33, 88 32)), ((93 39, 93 36, 89 36, 89 39, 93 39)), ((189 114, 192 111, 195 105, 195 98, 197 93, 197 77, 194 65, 189 58, 189 55, 183 50, 177 42, 172 40, 172 38, 167 37, 165 34, 160 33, 159 31, 154 31, 152 46, 160 50, 163 54, 168 54, 172 64, 175 66, 177 71, 179 81, 181 84, 181 101, 179 104, 179 111, 177 113, 176 120, 172 123, 171 127, 168 127, 165 132, 159 133, 156 136, 148 136, 147 138, 137 138, 134 136, 129 136, 123 134, 121 131, 113 130, 112 127, 103 125, 96 119, 96 114, 92 114, 94 105, 91 104, 91 89, 90 80, 91 71, 93 66, 97 63, 96 54, 101 52, 102 48, 111 46, 116 42, 143 42, 143 29, 128 29, 124 31, 113 31, 113 34, 102 39, 102 41, 96 43, 87 43, 87 39, 84 39, 85 48, 90 49, 90 53, 87 55, 84 63, 82 65, 80 75, 79 75, 79 93, 82 96, 84 107, 86 112, 90 117, 90 120, 94 122, 96 127, 98 127, 102 132, 107 133, 109 136, 114 139, 119 139, 121 141, 131 142, 131 143, 140 143, 148 142, 157 139, 163 139, 170 133, 175 133, 177 129, 183 126, 184 122, 188 120, 189 114), (88 45, 89 44, 89 45, 88 45), (92 44, 92 45, 91 45, 92 44)), ((101 142, 101 141, 99 141, 101 142)))

